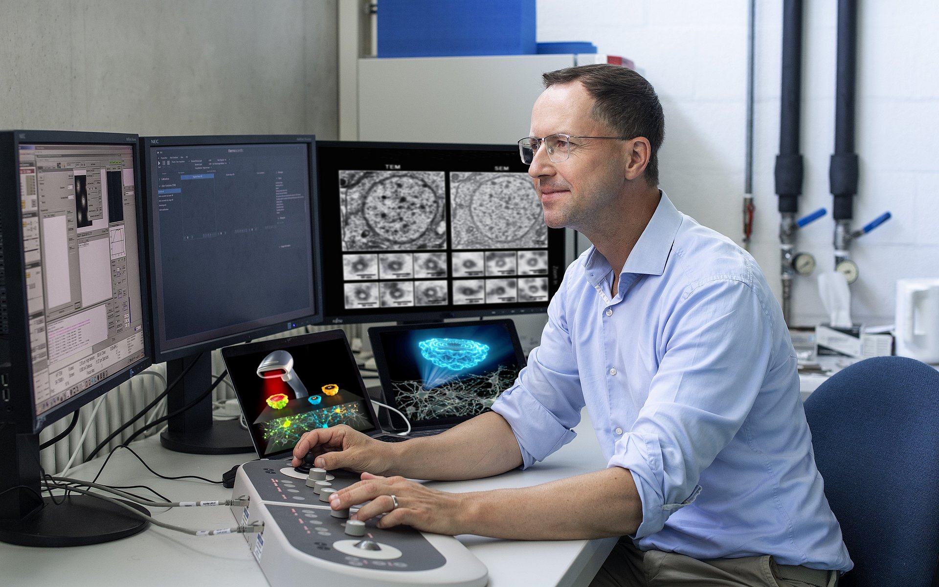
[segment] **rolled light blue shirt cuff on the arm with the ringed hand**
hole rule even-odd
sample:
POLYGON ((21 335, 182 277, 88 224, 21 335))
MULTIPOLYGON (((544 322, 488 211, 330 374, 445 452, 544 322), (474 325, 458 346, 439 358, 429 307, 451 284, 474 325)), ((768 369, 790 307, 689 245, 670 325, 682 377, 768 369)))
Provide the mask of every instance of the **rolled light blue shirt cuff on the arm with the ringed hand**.
POLYGON ((658 438, 651 434, 623 434, 623 438, 616 444, 616 454, 609 459, 607 466, 623 467, 633 475, 642 504, 642 523, 636 534, 630 535, 634 539, 655 534, 664 528, 669 516, 694 502, 701 491, 700 485, 690 491, 667 485, 662 468, 662 449, 658 438), (676 494, 680 497, 676 497, 676 494))

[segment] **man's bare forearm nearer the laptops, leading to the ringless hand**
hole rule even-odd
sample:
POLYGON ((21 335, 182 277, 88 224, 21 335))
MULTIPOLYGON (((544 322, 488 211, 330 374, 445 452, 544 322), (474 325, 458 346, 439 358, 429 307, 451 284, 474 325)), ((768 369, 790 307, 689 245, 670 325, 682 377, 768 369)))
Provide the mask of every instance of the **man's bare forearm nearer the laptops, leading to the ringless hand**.
POLYGON ((522 464, 516 435, 505 418, 489 412, 436 436, 393 444, 379 474, 455 481, 505 473, 522 464))

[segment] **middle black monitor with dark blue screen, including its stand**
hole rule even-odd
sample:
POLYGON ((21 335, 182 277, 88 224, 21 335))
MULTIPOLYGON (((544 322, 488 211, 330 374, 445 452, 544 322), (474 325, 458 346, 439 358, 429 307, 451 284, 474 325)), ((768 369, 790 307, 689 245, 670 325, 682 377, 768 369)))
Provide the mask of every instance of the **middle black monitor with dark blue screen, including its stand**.
POLYGON ((167 361, 171 381, 185 372, 168 411, 192 406, 169 420, 161 442, 188 453, 250 452, 238 421, 213 425, 210 351, 320 319, 314 137, 145 137, 141 145, 153 359, 167 361))

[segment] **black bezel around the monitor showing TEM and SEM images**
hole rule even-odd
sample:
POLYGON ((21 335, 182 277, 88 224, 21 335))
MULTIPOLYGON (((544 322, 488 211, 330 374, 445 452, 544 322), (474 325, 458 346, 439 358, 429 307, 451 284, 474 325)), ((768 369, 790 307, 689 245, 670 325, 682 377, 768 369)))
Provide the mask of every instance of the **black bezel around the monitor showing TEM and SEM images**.
MULTIPOLYGON (((317 166, 319 165, 318 158, 326 150, 334 148, 348 148, 348 149, 419 149, 419 150, 450 150, 450 151, 492 151, 492 152, 502 152, 502 153, 515 153, 517 156, 518 146, 516 144, 496 144, 496 143, 393 143, 393 142, 376 142, 376 141, 319 141, 317 143, 317 166)), ((519 165, 523 165, 519 159, 519 165)), ((318 189, 318 186, 317 186, 318 189)), ((323 194, 320 194, 320 198, 323 197, 323 194)), ((322 205, 322 200, 319 202, 320 206, 322 205)), ((320 218, 324 222, 329 221, 329 218, 324 218, 320 212, 320 218)), ((449 211, 448 211, 449 217, 449 211)), ((322 231, 321 231, 322 233, 322 231)), ((547 311, 547 306, 550 303, 551 298, 557 293, 558 288, 561 285, 561 280, 564 275, 564 271, 567 268, 565 264, 566 259, 566 235, 564 234, 563 229, 550 228, 547 229, 547 238, 548 245, 547 249, 555 250, 557 252, 557 259, 548 261, 548 295, 547 301, 532 303, 530 306, 515 306, 513 308, 506 309, 474 309, 468 307, 467 309, 454 309, 452 306, 449 309, 413 309, 412 311, 401 310, 401 309, 388 309, 387 311, 377 311, 369 313, 359 313, 353 312, 349 313, 348 311, 335 311, 337 309, 328 308, 328 300, 326 299, 326 284, 323 284, 323 324, 329 325, 340 325, 340 324, 368 324, 368 323, 387 323, 387 322, 397 322, 401 324, 408 323, 422 323, 422 322, 440 322, 442 320, 447 320, 451 318, 496 318, 496 317, 506 317, 511 318, 512 316, 520 316, 526 314, 540 314, 547 311), (330 313, 330 312, 333 313, 330 313)), ((323 249, 328 249, 328 245, 324 244, 323 249)), ((324 257, 321 259, 322 263, 325 263, 325 253, 324 257)), ((452 277, 448 277, 452 279, 452 277)), ((429 307, 428 307, 429 308, 429 307)))

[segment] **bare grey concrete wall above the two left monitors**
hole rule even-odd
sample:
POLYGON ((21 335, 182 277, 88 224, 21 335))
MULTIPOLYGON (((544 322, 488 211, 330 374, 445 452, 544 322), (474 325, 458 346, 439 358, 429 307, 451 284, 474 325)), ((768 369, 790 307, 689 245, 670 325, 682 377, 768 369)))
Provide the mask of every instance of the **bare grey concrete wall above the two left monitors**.
POLYGON ((336 0, 0 0, 0 128, 337 134, 336 0))

